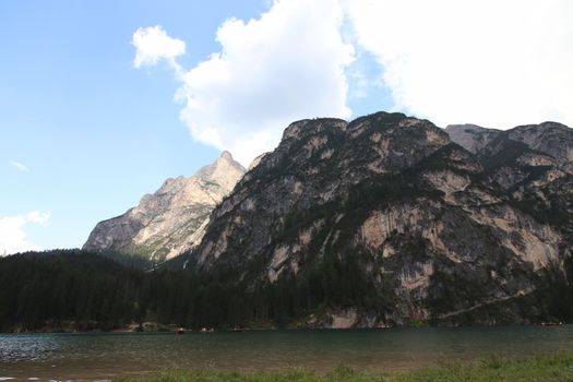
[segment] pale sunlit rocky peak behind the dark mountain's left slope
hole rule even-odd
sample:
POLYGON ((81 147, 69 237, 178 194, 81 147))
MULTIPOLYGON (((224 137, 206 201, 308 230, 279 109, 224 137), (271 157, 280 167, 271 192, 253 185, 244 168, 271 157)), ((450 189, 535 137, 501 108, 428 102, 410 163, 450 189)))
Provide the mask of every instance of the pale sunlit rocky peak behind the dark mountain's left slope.
POLYGON ((83 249, 117 251, 164 261, 201 241, 213 208, 244 174, 224 152, 190 178, 167 179, 123 215, 96 225, 83 249))

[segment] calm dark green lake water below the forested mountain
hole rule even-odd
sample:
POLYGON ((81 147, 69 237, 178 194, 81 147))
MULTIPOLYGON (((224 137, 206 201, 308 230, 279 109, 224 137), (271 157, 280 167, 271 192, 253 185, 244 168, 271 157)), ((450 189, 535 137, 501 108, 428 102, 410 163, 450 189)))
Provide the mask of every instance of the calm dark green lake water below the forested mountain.
POLYGON ((416 368, 437 359, 573 351, 573 325, 244 333, 0 334, 0 381, 109 380, 163 368, 319 371, 416 368))

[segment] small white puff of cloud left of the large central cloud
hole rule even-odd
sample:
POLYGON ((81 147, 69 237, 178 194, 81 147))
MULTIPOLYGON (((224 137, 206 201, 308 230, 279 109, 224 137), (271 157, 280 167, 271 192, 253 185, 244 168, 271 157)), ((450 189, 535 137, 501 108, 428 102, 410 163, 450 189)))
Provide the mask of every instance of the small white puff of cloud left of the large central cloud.
POLYGON ((135 47, 135 68, 155 65, 160 59, 167 60, 174 68, 179 68, 175 61, 184 55, 186 43, 167 36, 160 25, 139 28, 133 34, 131 44, 135 47))

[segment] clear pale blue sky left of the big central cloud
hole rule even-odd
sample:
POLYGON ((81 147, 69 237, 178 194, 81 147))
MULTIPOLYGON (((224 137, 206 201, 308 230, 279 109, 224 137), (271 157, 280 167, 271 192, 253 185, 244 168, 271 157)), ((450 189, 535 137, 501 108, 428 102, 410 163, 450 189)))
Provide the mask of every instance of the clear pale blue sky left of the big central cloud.
POLYGON ((0 3, 0 216, 49 212, 46 226, 26 227, 29 242, 79 247, 98 220, 218 155, 179 121, 170 73, 135 70, 130 44, 138 27, 160 23, 193 41, 194 62, 217 49, 213 35, 229 14, 265 8, 210 3, 208 12, 189 1, 0 3))

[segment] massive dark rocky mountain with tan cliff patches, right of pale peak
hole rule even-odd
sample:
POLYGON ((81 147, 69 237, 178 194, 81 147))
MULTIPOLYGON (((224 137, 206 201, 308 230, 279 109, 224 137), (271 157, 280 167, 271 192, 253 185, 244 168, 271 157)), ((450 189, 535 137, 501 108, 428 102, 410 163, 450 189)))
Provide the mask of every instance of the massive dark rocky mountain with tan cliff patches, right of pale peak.
POLYGON ((572 142, 550 122, 298 121, 213 211, 186 264, 232 270, 246 293, 298 290, 288 314, 310 326, 542 320, 548 286, 569 283, 572 142))

